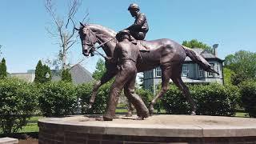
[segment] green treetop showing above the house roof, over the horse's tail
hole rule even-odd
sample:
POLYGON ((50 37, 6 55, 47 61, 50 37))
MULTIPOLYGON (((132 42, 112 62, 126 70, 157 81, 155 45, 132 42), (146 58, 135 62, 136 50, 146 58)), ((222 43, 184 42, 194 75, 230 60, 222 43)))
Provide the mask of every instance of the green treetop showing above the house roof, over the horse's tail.
POLYGON ((190 41, 183 41, 182 46, 190 47, 190 48, 202 48, 206 50, 212 51, 211 47, 203 42, 198 42, 197 39, 192 39, 190 41))

